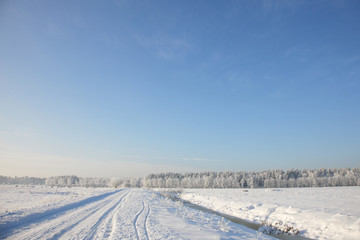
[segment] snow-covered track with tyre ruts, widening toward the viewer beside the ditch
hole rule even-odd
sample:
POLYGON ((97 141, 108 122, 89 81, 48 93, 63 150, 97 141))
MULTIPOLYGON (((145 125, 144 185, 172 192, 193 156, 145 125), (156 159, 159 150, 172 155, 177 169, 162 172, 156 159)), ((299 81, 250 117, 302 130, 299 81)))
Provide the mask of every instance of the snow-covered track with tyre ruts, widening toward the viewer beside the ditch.
POLYGON ((106 192, 7 219, 1 239, 272 239, 143 189, 106 192))

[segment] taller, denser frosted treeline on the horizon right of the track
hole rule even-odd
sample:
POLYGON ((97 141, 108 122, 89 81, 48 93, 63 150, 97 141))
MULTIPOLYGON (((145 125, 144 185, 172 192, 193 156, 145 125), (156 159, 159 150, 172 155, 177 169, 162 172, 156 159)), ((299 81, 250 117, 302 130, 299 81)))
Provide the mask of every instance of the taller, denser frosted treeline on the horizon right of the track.
POLYGON ((294 188, 360 186, 360 168, 150 174, 149 188, 294 188))

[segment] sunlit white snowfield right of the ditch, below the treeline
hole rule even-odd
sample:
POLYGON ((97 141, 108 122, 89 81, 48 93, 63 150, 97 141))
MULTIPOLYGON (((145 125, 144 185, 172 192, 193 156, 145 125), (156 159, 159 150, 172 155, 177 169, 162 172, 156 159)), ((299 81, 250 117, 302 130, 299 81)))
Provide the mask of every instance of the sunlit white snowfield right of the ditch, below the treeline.
POLYGON ((360 239, 360 187, 184 189, 181 198, 252 222, 298 228, 313 239, 360 239))

